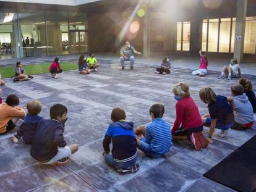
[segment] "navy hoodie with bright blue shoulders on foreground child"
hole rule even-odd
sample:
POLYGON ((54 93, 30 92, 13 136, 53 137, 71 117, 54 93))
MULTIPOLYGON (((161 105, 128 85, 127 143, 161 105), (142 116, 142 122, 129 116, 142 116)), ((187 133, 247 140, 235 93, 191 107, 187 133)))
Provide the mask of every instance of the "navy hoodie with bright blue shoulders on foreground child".
POLYGON ((116 162, 127 162, 137 155, 137 141, 134 135, 134 123, 113 122, 109 124, 103 140, 103 148, 109 151, 109 144, 112 139, 112 156, 116 162))

